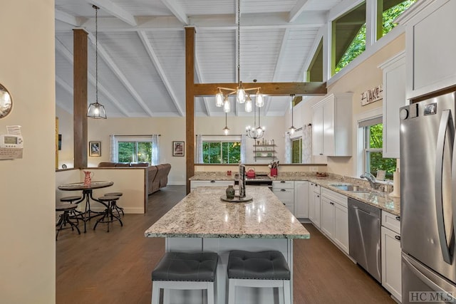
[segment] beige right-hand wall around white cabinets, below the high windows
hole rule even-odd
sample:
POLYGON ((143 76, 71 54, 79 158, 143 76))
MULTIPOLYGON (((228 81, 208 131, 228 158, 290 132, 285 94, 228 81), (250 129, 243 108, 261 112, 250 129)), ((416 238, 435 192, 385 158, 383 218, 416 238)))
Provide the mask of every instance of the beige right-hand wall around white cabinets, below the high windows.
MULTIPOLYGON (((363 113, 370 112, 375 108, 382 108, 383 106, 382 100, 371 103, 369 105, 361 106, 361 93, 371 88, 375 88, 377 85, 383 83, 383 73, 382 70, 378 68, 378 65, 384 63, 388 60, 388 58, 395 56, 397 53, 403 51, 404 49, 405 34, 402 34, 328 87, 328 94, 353 92, 353 130, 356 130, 358 124, 356 117, 362 115, 363 113)), ((294 110, 294 121, 297 122, 295 125, 301 126, 307 123, 311 123, 313 115, 311 106, 315 105, 323 98, 324 96, 311 98, 305 100, 303 105, 297 106, 294 110)), ((287 122, 291 121, 289 115, 287 115, 286 120, 287 122)), ((313 162, 327 163, 328 172, 356 177, 356 163, 358 162, 358 159, 356 157, 356 134, 353 134, 352 146, 352 155, 354 155, 353 157, 315 156, 313 162)))

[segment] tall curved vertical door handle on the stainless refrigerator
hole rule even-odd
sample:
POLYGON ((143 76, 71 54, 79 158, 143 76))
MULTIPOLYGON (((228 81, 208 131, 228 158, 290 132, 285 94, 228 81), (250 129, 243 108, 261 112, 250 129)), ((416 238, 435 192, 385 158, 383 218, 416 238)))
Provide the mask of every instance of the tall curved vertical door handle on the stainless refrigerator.
POLYGON ((445 147, 445 137, 447 137, 447 130, 450 129, 450 155, 452 155, 452 145, 454 141, 454 130, 451 111, 442 111, 440 118, 439 133, 437 135, 437 151, 435 159, 435 211, 437 214, 437 230, 439 233, 440 250, 442 251, 443 261, 451 265, 452 257, 450 256, 450 248, 447 243, 447 236, 445 231, 445 219, 443 217, 443 195, 442 195, 442 177, 443 177, 443 152, 445 147), (448 128, 450 125, 450 128, 448 128))

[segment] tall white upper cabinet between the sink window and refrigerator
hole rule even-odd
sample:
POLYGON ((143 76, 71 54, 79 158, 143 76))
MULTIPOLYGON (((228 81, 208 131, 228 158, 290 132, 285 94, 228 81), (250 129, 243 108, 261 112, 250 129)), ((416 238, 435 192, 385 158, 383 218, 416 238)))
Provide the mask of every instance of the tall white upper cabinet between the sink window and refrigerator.
POLYGON ((399 109, 406 105, 405 52, 380 65, 383 69, 383 157, 399 158, 399 109))

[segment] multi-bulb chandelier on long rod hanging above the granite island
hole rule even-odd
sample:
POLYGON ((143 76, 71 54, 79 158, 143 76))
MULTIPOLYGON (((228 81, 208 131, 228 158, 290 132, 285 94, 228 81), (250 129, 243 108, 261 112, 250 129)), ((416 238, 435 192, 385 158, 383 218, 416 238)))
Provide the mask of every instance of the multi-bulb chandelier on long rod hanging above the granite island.
MULTIPOLYGON (((241 81, 241 39, 240 39, 240 33, 241 33, 241 0, 238 1, 237 3, 237 81, 238 85, 236 89, 232 88, 222 88, 219 87, 217 88, 217 94, 215 95, 215 105, 217 107, 223 107, 224 112, 229 112, 229 108, 227 110, 227 97, 228 95, 236 94, 236 100, 238 103, 244 103, 245 104, 245 111, 246 112, 252 112, 252 98, 250 95, 252 93, 249 93, 250 91, 257 91, 255 95, 257 95, 257 99, 255 100, 255 105, 257 107, 261 108, 264 105, 264 96, 263 94, 260 93, 261 87, 257 88, 244 88, 242 85, 241 81)), ((257 80, 254 80, 254 83, 256 83, 257 80)))

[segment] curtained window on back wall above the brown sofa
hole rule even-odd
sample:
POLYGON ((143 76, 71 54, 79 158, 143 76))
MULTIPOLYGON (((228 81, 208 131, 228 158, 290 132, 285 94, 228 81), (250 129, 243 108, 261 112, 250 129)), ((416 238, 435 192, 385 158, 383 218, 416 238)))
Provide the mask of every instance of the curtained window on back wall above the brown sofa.
POLYGON ((153 164, 153 150, 158 149, 153 145, 152 136, 115 136, 111 145, 115 153, 115 162, 148 162, 153 164))

